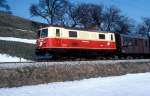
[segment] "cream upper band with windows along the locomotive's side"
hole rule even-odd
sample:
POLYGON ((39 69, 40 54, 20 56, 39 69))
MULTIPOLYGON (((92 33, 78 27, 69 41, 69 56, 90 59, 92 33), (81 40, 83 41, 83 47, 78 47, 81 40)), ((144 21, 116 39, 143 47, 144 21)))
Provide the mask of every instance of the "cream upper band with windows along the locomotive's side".
POLYGON ((115 42, 114 33, 110 32, 94 32, 94 31, 81 31, 81 30, 72 30, 61 27, 47 27, 48 28, 48 38, 68 38, 68 39, 83 39, 83 40, 100 40, 100 41, 113 41, 115 42), (59 30, 59 36, 56 34, 56 30, 59 30), (76 37, 70 37, 69 32, 76 32, 76 37), (102 38, 102 39, 100 39, 102 38))

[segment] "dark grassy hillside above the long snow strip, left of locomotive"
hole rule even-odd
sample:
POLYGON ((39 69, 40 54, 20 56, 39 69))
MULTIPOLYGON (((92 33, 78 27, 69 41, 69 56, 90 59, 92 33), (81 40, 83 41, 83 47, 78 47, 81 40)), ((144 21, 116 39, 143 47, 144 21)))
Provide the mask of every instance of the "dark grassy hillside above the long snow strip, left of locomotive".
POLYGON ((36 38, 36 30, 46 24, 27 20, 18 16, 0 13, 0 36, 36 38))

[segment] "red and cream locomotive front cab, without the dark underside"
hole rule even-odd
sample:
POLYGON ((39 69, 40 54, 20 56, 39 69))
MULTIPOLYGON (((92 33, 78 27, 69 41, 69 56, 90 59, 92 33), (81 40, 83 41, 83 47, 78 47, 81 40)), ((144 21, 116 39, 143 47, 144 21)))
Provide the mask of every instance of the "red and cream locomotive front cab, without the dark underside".
POLYGON ((61 28, 42 28, 38 30, 37 35, 37 49, 47 49, 54 45, 55 47, 60 45, 61 28))

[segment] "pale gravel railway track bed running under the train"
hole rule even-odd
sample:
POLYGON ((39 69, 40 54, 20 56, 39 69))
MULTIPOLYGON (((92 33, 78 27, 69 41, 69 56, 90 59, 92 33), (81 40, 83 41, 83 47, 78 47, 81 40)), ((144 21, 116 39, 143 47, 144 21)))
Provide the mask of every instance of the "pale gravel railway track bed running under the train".
POLYGON ((79 65, 79 64, 129 64, 150 63, 150 59, 133 60, 96 60, 96 61, 51 61, 51 62, 0 62, 0 69, 14 69, 23 67, 48 67, 52 65, 79 65))

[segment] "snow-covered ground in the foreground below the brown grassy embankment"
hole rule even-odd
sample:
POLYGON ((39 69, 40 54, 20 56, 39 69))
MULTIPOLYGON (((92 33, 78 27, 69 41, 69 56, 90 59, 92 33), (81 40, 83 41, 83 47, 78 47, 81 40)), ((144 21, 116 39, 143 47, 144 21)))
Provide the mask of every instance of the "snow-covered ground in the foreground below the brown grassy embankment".
POLYGON ((150 96, 150 73, 0 88, 0 96, 150 96))

